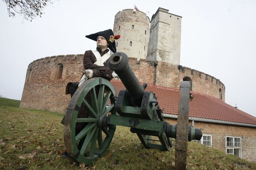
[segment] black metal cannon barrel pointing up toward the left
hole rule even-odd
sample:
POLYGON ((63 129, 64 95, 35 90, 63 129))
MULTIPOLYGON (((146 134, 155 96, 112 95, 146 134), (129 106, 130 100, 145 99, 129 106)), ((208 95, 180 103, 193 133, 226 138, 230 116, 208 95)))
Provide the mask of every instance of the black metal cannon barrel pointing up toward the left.
POLYGON ((140 100, 144 94, 144 87, 133 73, 128 63, 128 56, 123 52, 116 52, 109 57, 108 67, 117 73, 126 90, 134 100, 140 100))

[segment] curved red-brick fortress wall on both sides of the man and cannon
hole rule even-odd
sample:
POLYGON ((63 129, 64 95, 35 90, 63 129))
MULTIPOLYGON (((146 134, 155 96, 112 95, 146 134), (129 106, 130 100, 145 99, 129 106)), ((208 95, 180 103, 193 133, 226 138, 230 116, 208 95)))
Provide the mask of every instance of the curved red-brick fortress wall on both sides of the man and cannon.
MULTIPOLYGON (((165 62, 129 57, 130 66, 140 82, 179 89, 184 77, 192 80, 192 90, 225 101, 225 86, 215 77, 187 67, 165 62)), ((58 55, 37 59, 29 64, 20 108, 65 113, 70 95, 65 94, 68 82, 78 82, 82 75, 83 54, 58 55)))

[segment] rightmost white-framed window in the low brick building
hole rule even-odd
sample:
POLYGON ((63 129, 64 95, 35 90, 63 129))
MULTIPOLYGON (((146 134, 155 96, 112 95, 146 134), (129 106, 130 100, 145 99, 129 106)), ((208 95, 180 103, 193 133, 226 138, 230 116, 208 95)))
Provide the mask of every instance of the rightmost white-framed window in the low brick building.
POLYGON ((226 136, 226 153, 242 158, 241 137, 226 136))

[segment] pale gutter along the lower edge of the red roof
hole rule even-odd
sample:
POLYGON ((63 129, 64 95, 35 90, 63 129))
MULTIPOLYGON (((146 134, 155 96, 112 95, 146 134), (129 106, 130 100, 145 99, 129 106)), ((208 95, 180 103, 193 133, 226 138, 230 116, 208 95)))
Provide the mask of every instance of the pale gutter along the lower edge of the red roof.
MULTIPOLYGON (((170 114, 163 114, 164 118, 173 118, 178 119, 178 115, 170 115, 170 114)), ((205 119, 205 118, 194 118, 189 117, 189 121, 199 121, 199 122, 209 122, 209 123, 218 123, 218 124, 228 124, 228 125, 236 125, 236 126, 248 126, 248 127, 256 127, 256 124, 246 124, 246 123, 237 123, 237 122, 230 122, 230 121, 220 121, 215 119, 205 119)))

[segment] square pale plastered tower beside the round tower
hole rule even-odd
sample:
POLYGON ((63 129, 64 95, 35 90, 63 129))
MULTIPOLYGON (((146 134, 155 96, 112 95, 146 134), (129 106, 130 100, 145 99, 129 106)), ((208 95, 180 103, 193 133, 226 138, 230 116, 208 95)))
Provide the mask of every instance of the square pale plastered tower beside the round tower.
POLYGON ((158 8, 150 22, 147 59, 180 65, 181 18, 158 8))

